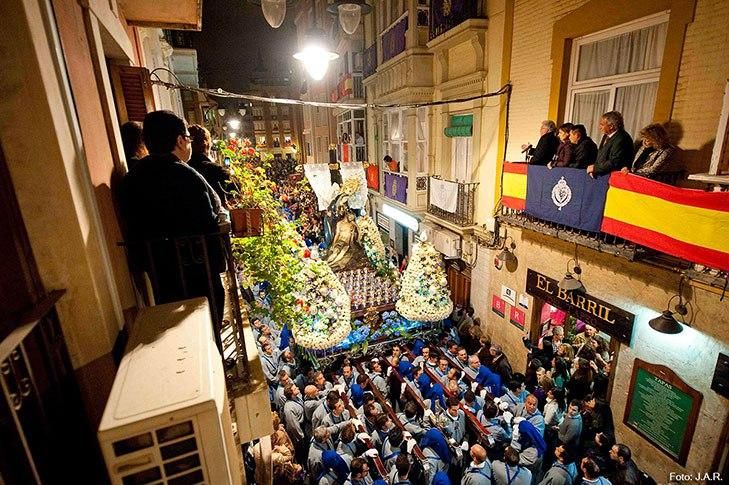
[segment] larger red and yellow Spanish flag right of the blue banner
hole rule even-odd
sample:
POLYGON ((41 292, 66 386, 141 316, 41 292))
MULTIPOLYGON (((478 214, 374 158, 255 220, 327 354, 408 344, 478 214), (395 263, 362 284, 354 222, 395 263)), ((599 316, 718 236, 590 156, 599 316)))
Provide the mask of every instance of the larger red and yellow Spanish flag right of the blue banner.
POLYGON ((614 172, 602 232, 729 270, 729 192, 704 192, 614 172))

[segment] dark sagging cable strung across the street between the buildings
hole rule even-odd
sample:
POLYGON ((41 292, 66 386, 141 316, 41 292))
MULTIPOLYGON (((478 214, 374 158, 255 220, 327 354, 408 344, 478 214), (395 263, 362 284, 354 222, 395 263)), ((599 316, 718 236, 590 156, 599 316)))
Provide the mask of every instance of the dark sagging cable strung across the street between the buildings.
POLYGON ((469 96, 465 98, 457 98, 457 99, 444 99, 439 101, 426 101, 422 103, 392 103, 392 104, 378 104, 378 103, 330 103, 325 101, 304 101, 300 99, 287 99, 287 98, 272 98, 268 96, 258 96, 255 94, 242 94, 242 93, 232 93, 229 91, 226 91, 222 88, 216 88, 216 89, 210 89, 210 88, 198 88, 194 86, 187 86, 180 82, 180 79, 175 75, 174 72, 170 71, 169 69, 160 67, 155 69, 150 73, 150 76, 155 76, 156 79, 152 80, 152 84, 157 84, 159 86, 163 86, 167 89, 180 89, 180 90, 186 90, 186 91, 193 91, 197 93, 202 93, 207 96, 217 97, 217 98, 228 98, 228 99, 245 99, 247 101, 258 101, 258 102, 265 102, 265 103, 276 103, 276 104, 293 104, 293 105, 301 105, 301 106, 317 106, 320 108, 344 108, 344 109, 353 109, 353 108, 370 108, 370 109, 394 109, 394 108, 421 108, 425 106, 442 106, 445 104, 451 104, 451 103, 465 103, 468 101, 475 101, 478 99, 484 99, 484 98, 491 98, 494 96, 503 96, 506 94, 511 93, 511 84, 505 84, 503 85, 498 91, 493 91, 490 93, 483 93, 483 94, 477 94, 475 96, 469 96), (165 71, 170 76, 172 76, 176 82, 167 82, 163 81, 156 71, 165 71))

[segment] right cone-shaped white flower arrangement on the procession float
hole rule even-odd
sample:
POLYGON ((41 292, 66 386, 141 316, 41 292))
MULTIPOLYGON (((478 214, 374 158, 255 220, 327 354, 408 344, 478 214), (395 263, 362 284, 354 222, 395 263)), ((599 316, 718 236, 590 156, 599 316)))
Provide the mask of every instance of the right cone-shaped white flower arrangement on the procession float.
POLYGON ((395 309, 403 317, 421 322, 443 320, 453 311, 441 255, 427 241, 413 246, 395 309))

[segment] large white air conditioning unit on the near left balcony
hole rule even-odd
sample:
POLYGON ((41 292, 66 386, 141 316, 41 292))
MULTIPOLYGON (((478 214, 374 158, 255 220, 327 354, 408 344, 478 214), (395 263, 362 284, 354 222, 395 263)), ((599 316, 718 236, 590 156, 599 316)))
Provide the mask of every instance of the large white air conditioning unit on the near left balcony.
POLYGON ((111 483, 241 484, 207 300, 142 309, 127 349, 98 433, 111 483))

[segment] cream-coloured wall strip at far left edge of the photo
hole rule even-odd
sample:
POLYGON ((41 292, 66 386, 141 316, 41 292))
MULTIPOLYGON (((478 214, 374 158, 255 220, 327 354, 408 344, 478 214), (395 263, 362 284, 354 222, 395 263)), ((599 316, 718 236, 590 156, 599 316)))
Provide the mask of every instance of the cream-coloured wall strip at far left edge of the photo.
POLYGON ((123 322, 76 114, 39 2, 0 2, 0 141, 74 367, 111 349, 123 322))

